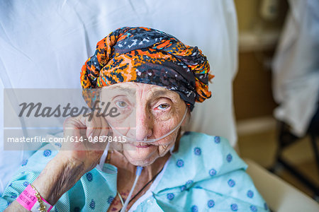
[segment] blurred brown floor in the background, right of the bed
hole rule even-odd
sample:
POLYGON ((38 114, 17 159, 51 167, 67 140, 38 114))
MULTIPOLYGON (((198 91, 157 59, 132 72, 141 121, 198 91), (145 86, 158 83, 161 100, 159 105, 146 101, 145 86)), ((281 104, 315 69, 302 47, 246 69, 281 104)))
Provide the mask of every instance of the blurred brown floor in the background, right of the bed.
MULTIPOLYGON (((250 123, 245 121, 237 123, 238 146, 242 158, 250 158, 259 163, 259 165, 269 168, 274 164, 274 155, 276 153, 276 124, 274 120, 269 122, 269 118, 260 120, 264 120, 263 123, 266 123, 265 120, 267 120, 268 124, 259 124, 260 127, 258 128, 258 124, 254 124, 257 123, 256 120, 250 123), (249 131, 248 129, 253 130, 249 131)), ((301 170, 306 177, 319 185, 319 170, 317 170, 315 165, 309 138, 301 139, 289 146, 284 152, 284 158, 296 165, 298 170, 301 170)), ((284 168, 279 167, 276 174, 301 190, 301 192, 313 197, 313 192, 284 168)))

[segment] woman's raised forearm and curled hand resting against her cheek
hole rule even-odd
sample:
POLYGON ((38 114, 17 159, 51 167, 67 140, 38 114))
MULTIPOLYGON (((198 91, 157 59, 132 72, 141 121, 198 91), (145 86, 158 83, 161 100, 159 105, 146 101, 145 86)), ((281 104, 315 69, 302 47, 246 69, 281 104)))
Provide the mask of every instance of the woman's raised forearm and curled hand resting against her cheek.
MULTIPOLYGON (((108 136, 108 124, 103 117, 94 116, 91 121, 89 117, 68 118, 64 123, 64 136, 65 139, 68 137, 69 141, 62 144, 59 153, 47 163, 39 177, 33 182, 35 189, 52 206, 86 172, 99 163, 107 143, 91 143, 89 141, 94 141, 94 139, 89 140, 89 137, 97 137, 99 141, 100 136, 108 136), (73 142, 70 138, 73 139, 73 142)), ((6 211, 27 210, 14 201, 6 211)))

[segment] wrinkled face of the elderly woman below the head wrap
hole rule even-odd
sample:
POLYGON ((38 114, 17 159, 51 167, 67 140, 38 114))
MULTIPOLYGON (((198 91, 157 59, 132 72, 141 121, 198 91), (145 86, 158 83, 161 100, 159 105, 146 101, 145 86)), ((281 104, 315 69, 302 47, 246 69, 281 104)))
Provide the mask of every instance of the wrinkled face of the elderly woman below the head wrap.
MULTIPOLYGON (((107 92, 102 91, 101 101, 111 102, 110 106, 118 110, 117 117, 106 119, 113 128, 128 137, 128 141, 121 145, 123 155, 130 163, 150 165, 174 146, 178 129, 153 143, 138 141, 164 136, 181 122, 187 109, 179 94, 145 83, 118 83, 102 90, 107 92)), ((113 137, 121 134, 113 130, 113 137)))

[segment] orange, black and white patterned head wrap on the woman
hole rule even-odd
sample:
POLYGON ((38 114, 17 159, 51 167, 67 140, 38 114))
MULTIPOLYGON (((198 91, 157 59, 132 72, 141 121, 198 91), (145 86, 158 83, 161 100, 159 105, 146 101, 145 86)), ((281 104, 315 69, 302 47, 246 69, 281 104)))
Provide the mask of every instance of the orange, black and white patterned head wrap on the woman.
POLYGON ((193 110, 211 97, 209 64, 197 47, 152 28, 120 28, 96 45, 82 66, 82 88, 135 82, 162 86, 179 93, 193 110))

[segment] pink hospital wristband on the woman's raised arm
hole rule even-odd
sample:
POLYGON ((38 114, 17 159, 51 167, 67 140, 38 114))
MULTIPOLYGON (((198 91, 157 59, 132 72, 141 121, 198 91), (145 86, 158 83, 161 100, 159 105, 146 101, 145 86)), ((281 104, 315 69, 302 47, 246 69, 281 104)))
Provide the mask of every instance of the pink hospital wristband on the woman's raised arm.
MULTIPOLYGON (((26 208, 28 211, 40 211, 40 204, 38 202, 37 197, 35 196, 35 193, 38 191, 35 191, 31 185, 29 184, 26 189, 18 196, 16 199, 23 208, 26 208)), ((47 208, 47 211, 51 211, 52 206, 43 199, 41 196, 41 199, 43 200, 43 204, 45 205, 45 208, 47 208)))

